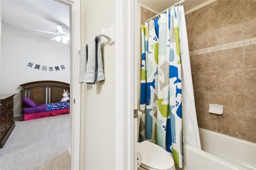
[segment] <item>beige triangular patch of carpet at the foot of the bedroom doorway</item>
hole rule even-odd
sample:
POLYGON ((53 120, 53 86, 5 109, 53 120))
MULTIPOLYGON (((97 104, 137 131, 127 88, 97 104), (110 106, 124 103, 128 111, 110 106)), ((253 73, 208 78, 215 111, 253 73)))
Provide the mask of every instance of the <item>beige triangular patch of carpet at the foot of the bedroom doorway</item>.
POLYGON ((50 162, 35 168, 35 170, 70 170, 71 157, 68 151, 53 158, 50 162))

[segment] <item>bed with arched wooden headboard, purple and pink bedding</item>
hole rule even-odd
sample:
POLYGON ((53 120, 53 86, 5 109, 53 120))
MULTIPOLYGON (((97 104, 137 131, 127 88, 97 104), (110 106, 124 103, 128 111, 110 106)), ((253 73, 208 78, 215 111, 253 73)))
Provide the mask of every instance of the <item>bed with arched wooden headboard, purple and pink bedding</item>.
POLYGON ((20 85, 22 121, 68 114, 69 101, 60 102, 69 93, 70 84, 61 81, 33 81, 20 85))

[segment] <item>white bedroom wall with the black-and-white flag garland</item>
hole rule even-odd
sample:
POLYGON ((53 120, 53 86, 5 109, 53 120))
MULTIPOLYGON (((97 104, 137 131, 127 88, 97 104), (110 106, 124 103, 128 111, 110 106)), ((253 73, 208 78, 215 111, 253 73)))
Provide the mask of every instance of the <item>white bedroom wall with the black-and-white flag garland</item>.
MULTIPOLYGON (((31 81, 54 80, 70 83, 70 50, 62 54, 62 43, 50 41, 33 32, 2 22, 0 93, 17 93, 14 97, 14 117, 20 116, 20 85, 31 81), (32 68, 27 67, 33 62, 32 68), (41 65, 40 70, 34 69, 41 65), (42 65, 65 65, 65 70, 42 71, 42 65)), ((60 96, 60 99, 62 96, 60 96)))

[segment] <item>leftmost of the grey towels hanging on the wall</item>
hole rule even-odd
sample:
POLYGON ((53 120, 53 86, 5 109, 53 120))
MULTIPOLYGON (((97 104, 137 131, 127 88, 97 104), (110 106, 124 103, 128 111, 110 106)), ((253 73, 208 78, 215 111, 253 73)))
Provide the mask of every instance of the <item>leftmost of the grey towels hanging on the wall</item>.
POLYGON ((78 83, 83 83, 85 74, 86 74, 86 65, 87 65, 87 44, 84 45, 80 50, 80 58, 79 58, 79 77, 78 83))

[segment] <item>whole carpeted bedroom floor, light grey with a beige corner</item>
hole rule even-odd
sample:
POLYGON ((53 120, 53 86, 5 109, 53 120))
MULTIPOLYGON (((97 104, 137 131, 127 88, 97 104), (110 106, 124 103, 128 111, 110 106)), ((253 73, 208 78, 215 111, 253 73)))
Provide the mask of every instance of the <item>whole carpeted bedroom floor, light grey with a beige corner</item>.
POLYGON ((16 121, 0 149, 0 169, 70 170, 69 116, 16 121))

